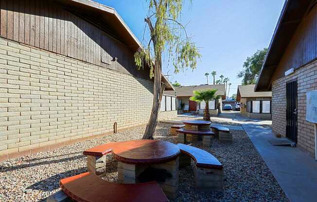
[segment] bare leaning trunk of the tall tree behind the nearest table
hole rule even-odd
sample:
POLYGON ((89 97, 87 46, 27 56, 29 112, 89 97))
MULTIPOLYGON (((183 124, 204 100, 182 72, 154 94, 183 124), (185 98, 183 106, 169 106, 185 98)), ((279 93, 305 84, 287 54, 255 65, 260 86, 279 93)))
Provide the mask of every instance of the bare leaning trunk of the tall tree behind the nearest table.
POLYGON ((154 131, 158 120, 158 110, 162 95, 164 92, 165 84, 161 84, 161 57, 156 56, 154 67, 154 89, 153 89, 153 106, 149 122, 146 125, 146 129, 142 139, 153 139, 154 131))

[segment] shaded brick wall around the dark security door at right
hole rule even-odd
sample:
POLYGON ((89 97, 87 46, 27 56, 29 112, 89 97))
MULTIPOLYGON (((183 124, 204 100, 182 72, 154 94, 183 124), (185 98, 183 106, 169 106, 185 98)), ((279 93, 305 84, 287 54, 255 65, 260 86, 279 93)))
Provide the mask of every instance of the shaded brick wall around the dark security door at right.
POLYGON ((297 69, 272 84, 273 132, 286 135, 286 83, 297 79, 298 84, 298 146, 310 155, 315 155, 314 125, 306 118, 306 92, 317 90, 317 61, 297 69))

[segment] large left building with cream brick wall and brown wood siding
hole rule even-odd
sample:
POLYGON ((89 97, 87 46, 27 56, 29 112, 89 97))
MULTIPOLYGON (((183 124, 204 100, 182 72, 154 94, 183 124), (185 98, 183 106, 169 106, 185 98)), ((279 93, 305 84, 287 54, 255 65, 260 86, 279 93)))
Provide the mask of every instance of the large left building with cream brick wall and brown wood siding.
POLYGON ((153 80, 137 70, 141 44, 114 9, 1 0, 0 25, 0 160, 147 123, 153 80))

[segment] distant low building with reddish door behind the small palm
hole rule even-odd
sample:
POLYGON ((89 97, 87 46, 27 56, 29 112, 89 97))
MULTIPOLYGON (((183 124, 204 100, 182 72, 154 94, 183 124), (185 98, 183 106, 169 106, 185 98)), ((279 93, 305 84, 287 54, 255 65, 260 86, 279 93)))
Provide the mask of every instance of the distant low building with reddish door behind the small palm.
POLYGON ((206 90, 206 89, 217 89, 217 95, 221 96, 221 99, 217 101, 209 102, 209 112, 212 116, 216 116, 222 111, 222 99, 226 99, 225 96, 225 85, 186 85, 175 87, 175 91, 166 91, 167 95, 175 95, 178 100, 178 108, 181 108, 181 104, 184 104, 184 110, 190 112, 198 112, 203 115, 205 109, 205 102, 197 103, 195 101, 190 101, 189 98, 194 96, 194 90, 206 90))

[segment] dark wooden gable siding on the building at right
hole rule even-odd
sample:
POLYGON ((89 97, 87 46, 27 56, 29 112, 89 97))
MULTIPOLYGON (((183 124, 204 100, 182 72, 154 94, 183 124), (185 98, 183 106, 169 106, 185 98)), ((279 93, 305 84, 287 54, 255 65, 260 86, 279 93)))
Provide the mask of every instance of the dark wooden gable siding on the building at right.
POLYGON ((317 58, 317 6, 303 17, 273 74, 272 82, 290 68, 301 67, 317 58))

